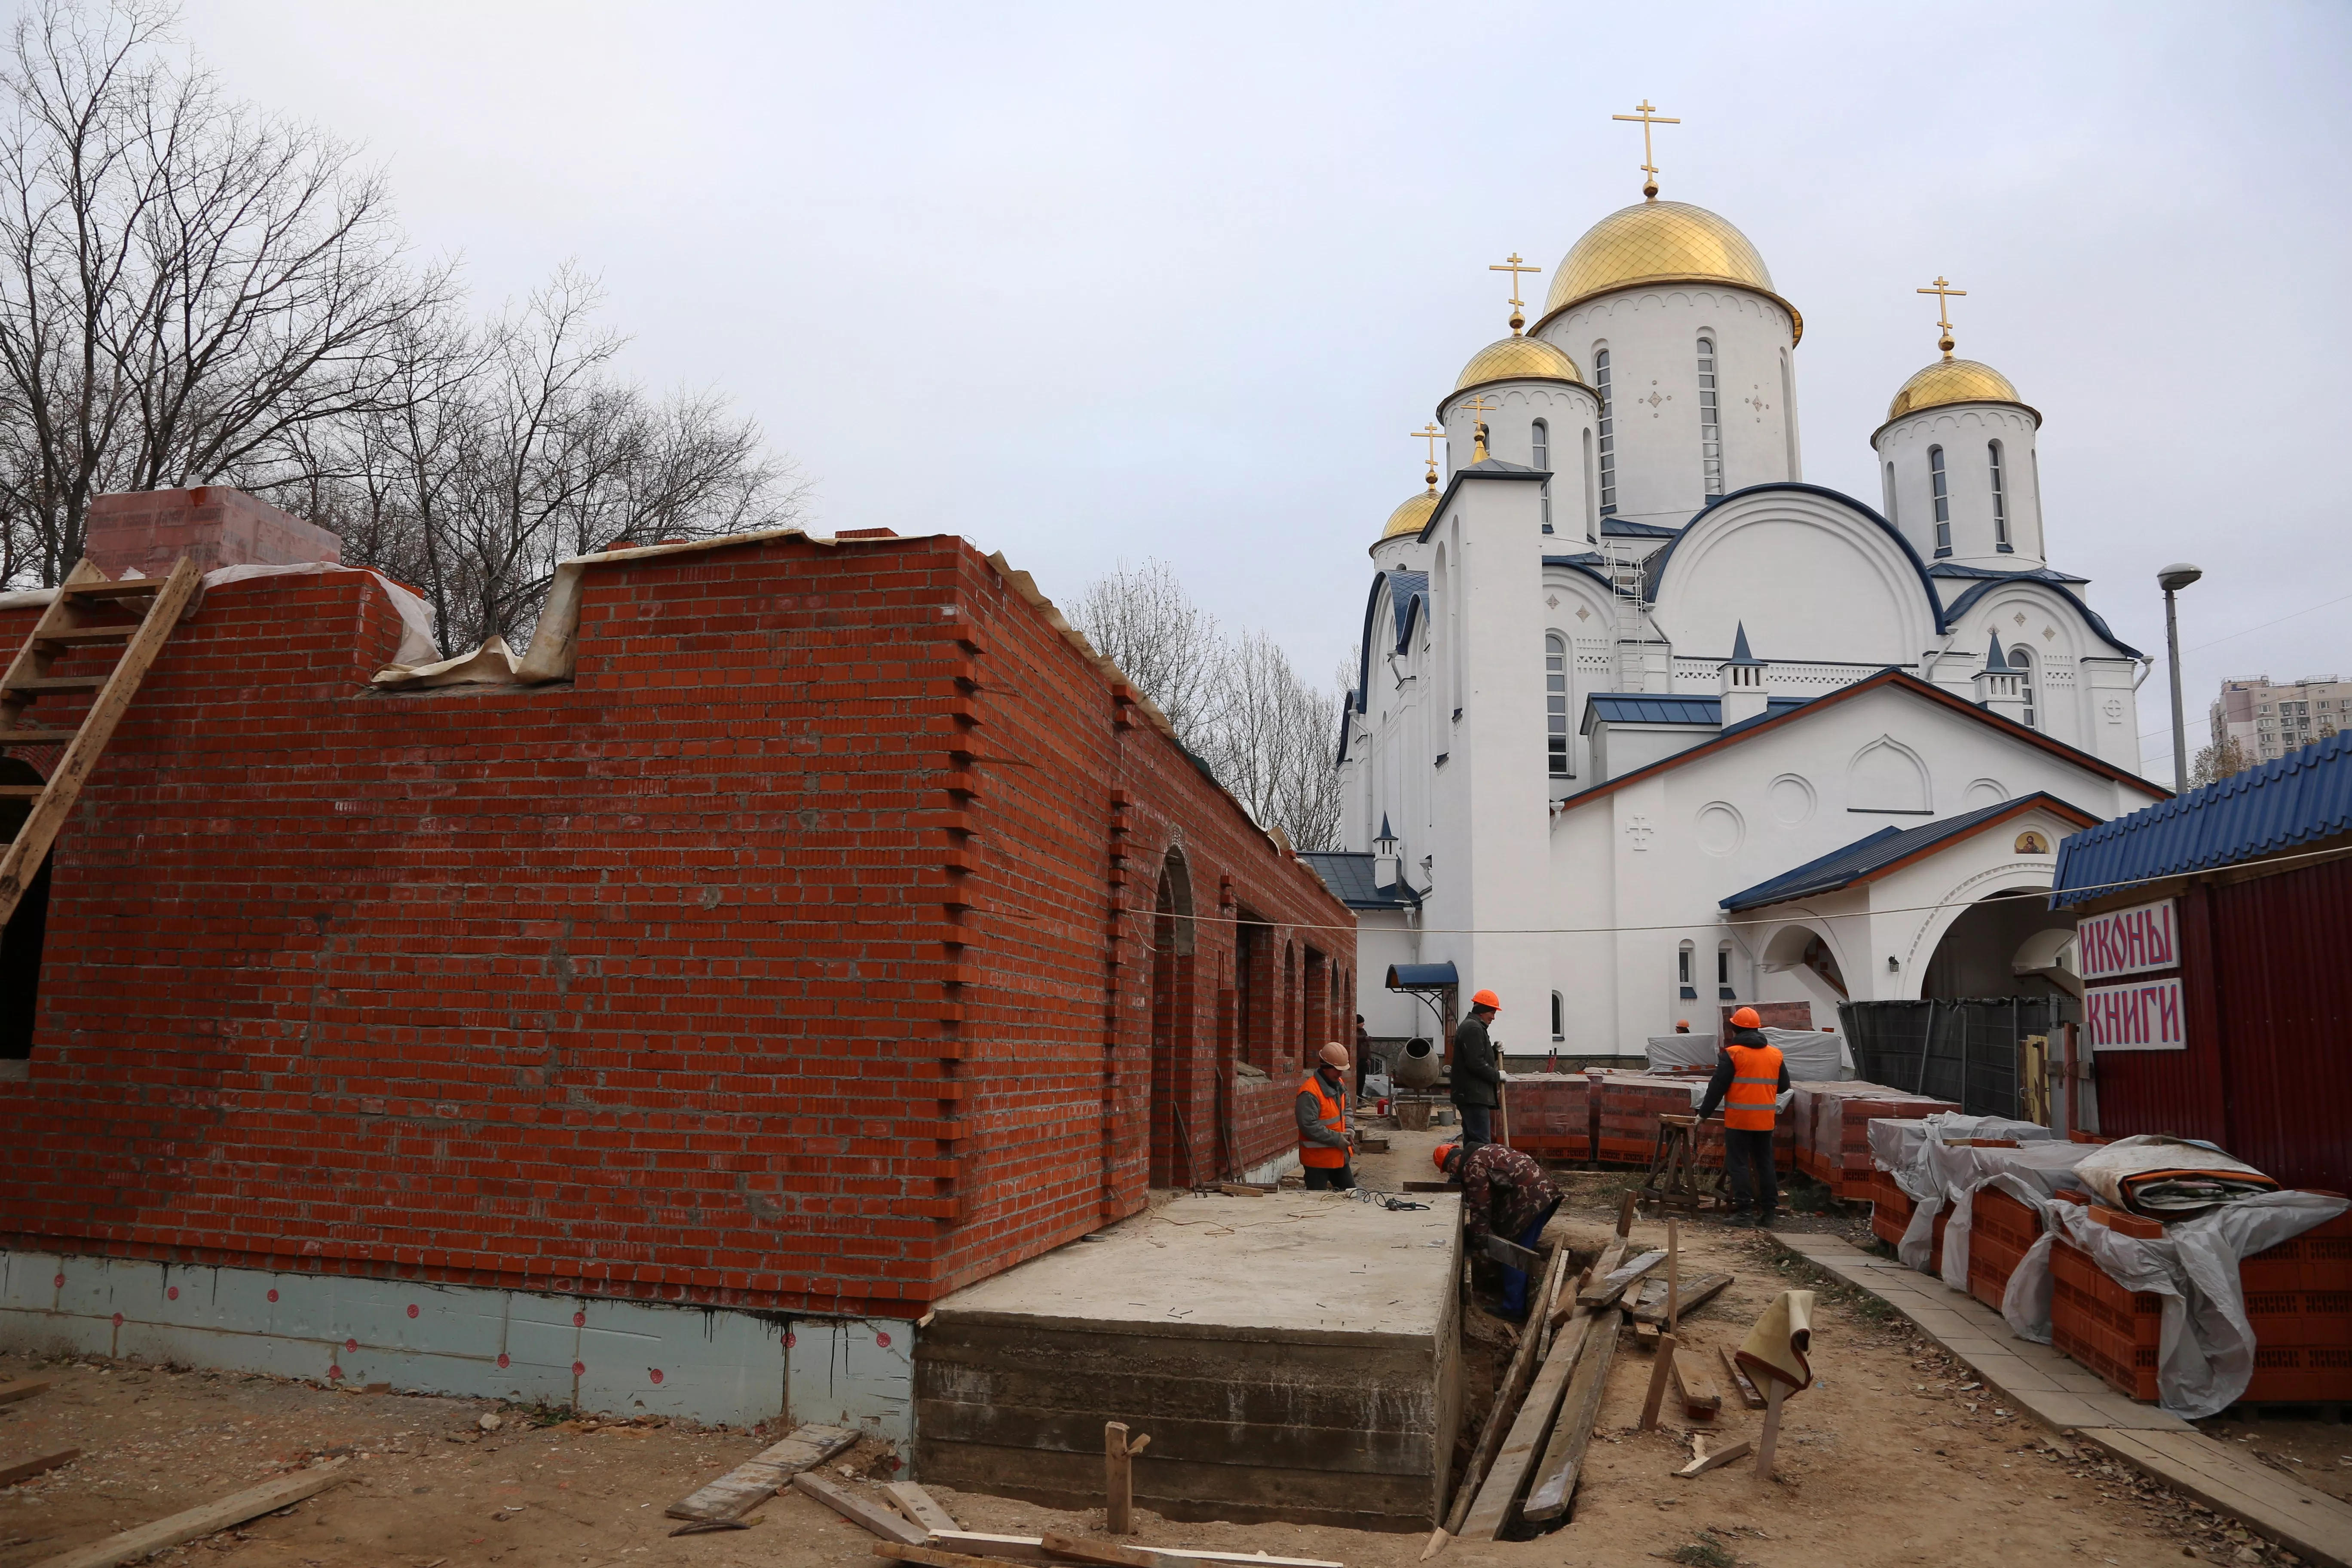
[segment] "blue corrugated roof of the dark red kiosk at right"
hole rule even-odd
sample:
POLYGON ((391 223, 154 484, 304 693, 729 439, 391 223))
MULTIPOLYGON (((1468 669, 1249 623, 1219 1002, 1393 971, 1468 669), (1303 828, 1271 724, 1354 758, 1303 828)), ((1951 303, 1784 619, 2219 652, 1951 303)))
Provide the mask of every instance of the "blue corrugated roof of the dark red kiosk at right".
POLYGON ((2077 832, 2051 907, 2136 882, 2211 872, 2352 832, 2352 731, 2077 832))

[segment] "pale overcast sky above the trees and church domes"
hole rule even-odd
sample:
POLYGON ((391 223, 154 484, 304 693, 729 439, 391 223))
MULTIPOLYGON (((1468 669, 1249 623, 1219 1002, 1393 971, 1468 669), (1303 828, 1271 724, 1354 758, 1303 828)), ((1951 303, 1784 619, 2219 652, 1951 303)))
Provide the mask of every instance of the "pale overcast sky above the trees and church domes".
MULTIPOLYGON (((814 524, 957 531, 1073 597, 1160 555, 1319 679, 1421 425, 1639 200, 1804 310, 1804 477, 1875 503, 1936 350, 2042 409, 2051 564, 2161 654, 2352 675, 2345 5, 294 5, 191 0, 238 94, 367 143, 485 306, 579 259, 656 386, 713 386, 814 524), (1550 273, 1531 287, 1548 284, 1550 273), (2249 630, 2260 628, 2260 630, 2249 630), (2244 632, 2244 635, 2232 635, 2244 632)), ((2166 776, 2164 670, 2140 703, 2166 776)))

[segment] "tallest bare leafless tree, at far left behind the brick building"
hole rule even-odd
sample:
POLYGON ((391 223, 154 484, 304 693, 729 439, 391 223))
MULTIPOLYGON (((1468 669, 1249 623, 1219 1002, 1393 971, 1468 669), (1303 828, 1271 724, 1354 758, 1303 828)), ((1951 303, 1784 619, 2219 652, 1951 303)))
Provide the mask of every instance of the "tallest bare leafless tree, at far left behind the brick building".
POLYGON ((0 61, 0 569, 54 583, 103 491, 254 482, 395 407, 409 270, 383 179, 165 63, 153 0, 40 0, 0 61))

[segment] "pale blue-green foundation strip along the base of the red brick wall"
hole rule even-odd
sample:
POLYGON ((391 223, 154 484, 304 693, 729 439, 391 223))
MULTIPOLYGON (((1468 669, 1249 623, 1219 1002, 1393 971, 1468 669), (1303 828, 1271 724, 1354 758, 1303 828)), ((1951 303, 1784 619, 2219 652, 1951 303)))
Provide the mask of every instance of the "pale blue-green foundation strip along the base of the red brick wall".
POLYGON ((913 1439, 915 1326, 0 1251, 0 1347, 913 1439))

